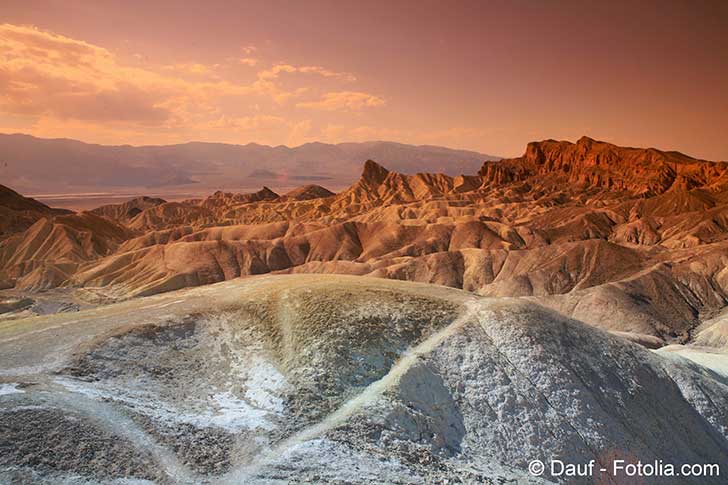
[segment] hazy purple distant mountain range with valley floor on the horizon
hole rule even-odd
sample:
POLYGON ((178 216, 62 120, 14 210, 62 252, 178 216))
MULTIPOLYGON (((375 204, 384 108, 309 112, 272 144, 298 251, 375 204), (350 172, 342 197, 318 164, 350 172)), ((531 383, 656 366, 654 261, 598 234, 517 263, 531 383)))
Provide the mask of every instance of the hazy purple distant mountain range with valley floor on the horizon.
POLYGON ((323 181, 343 186, 375 159, 402 173, 473 174, 497 157, 436 146, 375 141, 298 147, 191 142, 105 146, 0 134, 0 180, 24 193, 118 191, 189 186, 236 188, 323 181))

